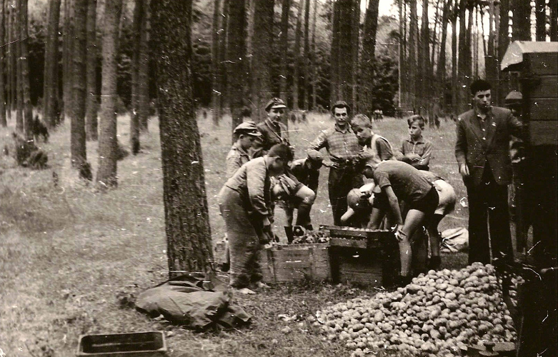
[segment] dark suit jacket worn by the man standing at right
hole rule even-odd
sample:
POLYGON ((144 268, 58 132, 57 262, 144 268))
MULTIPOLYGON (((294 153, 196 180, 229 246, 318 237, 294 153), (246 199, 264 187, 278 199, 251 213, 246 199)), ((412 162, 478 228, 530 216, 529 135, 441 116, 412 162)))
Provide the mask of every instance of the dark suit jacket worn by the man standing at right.
POLYGON ((474 109, 466 111, 457 118, 457 140, 455 157, 457 164, 469 167, 469 182, 478 186, 487 163, 494 180, 499 185, 512 181, 512 163, 509 159, 509 139, 511 135, 521 136, 522 124, 509 109, 493 106, 485 119, 482 131, 480 117, 474 109))

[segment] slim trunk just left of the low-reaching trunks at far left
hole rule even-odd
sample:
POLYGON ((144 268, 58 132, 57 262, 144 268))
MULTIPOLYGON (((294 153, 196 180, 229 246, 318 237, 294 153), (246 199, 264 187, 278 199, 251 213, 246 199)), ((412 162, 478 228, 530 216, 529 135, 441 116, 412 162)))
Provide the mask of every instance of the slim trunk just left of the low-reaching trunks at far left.
MULTIPOLYGON (((74 65, 73 65, 73 52, 74 52, 74 2, 76 0, 64 1, 64 38, 63 41, 63 100, 64 100, 64 118, 71 119, 73 113, 73 105, 71 103, 74 91, 74 65)), ((80 76, 83 74, 80 74, 80 76)))

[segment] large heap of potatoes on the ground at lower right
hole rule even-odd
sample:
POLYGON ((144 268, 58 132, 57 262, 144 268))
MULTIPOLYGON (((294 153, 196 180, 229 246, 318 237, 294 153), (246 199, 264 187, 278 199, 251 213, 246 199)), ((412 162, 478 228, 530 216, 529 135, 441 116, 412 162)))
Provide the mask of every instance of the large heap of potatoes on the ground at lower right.
POLYGON ((459 271, 429 271, 404 288, 354 298, 317 312, 329 341, 353 356, 460 356, 459 345, 514 342, 516 332, 494 266, 473 263, 459 271))

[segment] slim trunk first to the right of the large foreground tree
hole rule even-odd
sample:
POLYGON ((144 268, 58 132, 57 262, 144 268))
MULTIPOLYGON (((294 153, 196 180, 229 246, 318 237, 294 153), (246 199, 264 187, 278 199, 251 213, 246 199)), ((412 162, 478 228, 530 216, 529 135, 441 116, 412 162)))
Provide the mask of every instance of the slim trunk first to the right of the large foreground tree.
POLYGON ((222 89, 219 88, 219 38, 225 36, 219 26, 221 14, 221 0, 213 1, 213 23, 211 24, 211 109, 213 111, 213 125, 219 126, 221 120, 221 108, 219 96, 222 89))

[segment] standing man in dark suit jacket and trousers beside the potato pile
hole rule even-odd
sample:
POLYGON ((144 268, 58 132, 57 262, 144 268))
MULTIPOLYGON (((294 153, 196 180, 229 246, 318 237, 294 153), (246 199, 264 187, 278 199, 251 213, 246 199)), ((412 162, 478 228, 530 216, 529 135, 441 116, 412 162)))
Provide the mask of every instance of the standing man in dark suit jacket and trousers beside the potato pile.
POLYGON ((491 106, 491 86, 471 84, 473 108, 457 118, 455 157, 469 198, 469 263, 512 258, 507 185, 512 180, 509 140, 522 125, 509 109, 491 106), (487 223, 490 223, 490 244, 487 223))

